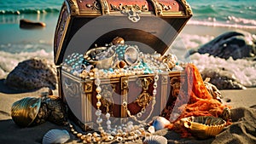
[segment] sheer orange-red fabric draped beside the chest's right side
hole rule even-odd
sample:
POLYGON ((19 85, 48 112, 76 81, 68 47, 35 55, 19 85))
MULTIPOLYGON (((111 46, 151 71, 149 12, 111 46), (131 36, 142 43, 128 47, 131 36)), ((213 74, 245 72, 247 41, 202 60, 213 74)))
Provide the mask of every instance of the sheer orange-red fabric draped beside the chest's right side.
POLYGON ((221 116, 224 106, 221 102, 212 98, 201 78, 201 74, 194 64, 188 64, 185 68, 185 78, 182 89, 175 103, 180 116, 167 127, 181 133, 182 137, 189 136, 189 132, 179 124, 181 118, 190 116, 221 116))

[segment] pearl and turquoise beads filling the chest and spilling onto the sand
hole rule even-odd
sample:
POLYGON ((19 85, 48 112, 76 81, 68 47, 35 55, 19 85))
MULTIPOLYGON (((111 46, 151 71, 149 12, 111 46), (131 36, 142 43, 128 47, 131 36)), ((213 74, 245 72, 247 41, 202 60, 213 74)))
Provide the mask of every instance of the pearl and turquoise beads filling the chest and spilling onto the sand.
MULTIPOLYGON (((120 39, 122 42, 122 39, 120 39)), ((167 55, 162 60, 160 54, 143 54, 143 52, 139 52, 137 46, 130 46, 125 43, 114 42, 114 45, 111 45, 109 49, 113 49, 115 51, 115 65, 119 64, 116 67, 110 67, 108 69, 97 69, 94 68, 93 65, 90 65, 87 60, 84 60, 84 55, 79 55, 74 53, 72 55, 68 55, 67 59, 64 60, 62 64, 63 70, 70 72, 74 76, 80 78, 90 78, 94 79, 96 84, 96 124, 98 125, 98 131, 101 135, 97 133, 88 133, 86 135, 79 133, 74 130, 73 125, 70 124, 70 130, 73 135, 77 135, 83 143, 91 143, 91 142, 102 142, 102 141, 136 141, 142 139, 145 136, 151 135, 148 131, 144 130, 144 126, 146 126, 146 122, 148 118, 152 115, 154 110, 154 105, 156 103, 156 95, 157 95, 157 82, 159 80, 159 72, 168 72, 172 70, 172 67, 177 65, 177 59, 173 55, 167 55), (130 49, 127 50, 126 49, 130 49), (137 51, 137 52, 136 52, 137 51), (125 54, 126 52, 126 54, 125 54), (129 52, 129 55, 128 55, 129 52), (137 54, 134 57, 131 53, 137 54), (126 56, 126 57, 125 57, 126 56), (131 60, 130 60, 131 59, 131 60), (174 64, 175 63, 175 64, 174 64), (133 65, 134 64, 134 65, 133 65), (173 65, 174 64, 174 65, 173 65), (117 68, 118 67, 118 68, 117 68), (146 118, 143 120, 139 120, 139 118, 143 117, 143 113, 146 112, 146 108, 143 107, 141 112, 138 112, 137 115, 131 115, 130 110, 128 109, 128 103, 125 101, 125 97, 128 95, 124 93, 122 107, 125 107, 125 112, 128 117, 134 120, 138 125, 133 124, 133 122, 129 121, 126 124, 121 124, 121 126, 112 125, 111 122, 111 114, 106 112, 106 124, 107 129, 104 130, 102 126, 102 88, 101 88, 101 79, 100 78, 120 78, 122 76, 134 76, 136 74, 152 74, 154 73, 154 84, 153 84, 153 94, 151 100, 151 109, 146 118)), ((88 57, 86 57, 88 59, 88 57)), ((99 58, 100 60, 100 58, 99 58)))

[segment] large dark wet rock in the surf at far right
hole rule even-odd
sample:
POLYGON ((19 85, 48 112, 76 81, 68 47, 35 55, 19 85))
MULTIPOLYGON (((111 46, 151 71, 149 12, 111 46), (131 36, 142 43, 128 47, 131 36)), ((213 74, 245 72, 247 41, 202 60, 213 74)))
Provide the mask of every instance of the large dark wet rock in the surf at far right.
POLYGON ((218 56, 225 60, 230 57, 234 60, 244 58, 256 60, 256 37, 249 32, 225 32, 199 49, 190 49, 186 57, 196 52, 218 56))

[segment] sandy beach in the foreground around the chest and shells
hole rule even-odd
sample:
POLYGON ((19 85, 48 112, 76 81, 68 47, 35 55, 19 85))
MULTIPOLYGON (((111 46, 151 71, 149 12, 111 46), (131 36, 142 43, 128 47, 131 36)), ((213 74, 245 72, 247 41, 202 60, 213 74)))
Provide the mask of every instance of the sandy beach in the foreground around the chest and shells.
MULTIPOLYGON (((3 84, 3 81, 1 81, 0 141, 2 144, 41 143, 44 134, 48 130, 68 130, 67 126, 56 125, 50 122, 29 128, 20 128, 11 119, 10 109, 15 101, 18 101, 24 97, 38 97, 41 92, 45 91, 47 91, 47 89, 20 93, 19 91, 9 89, 3 84)), ((221 90, 221 92, 224 96, 224 104, 232 107, 231 118, 233 124, 226 127, 223 132, 216 136, 216 138, 210 138, 207 140, 196 140, 195 138, 181 139, 177 133, 166 129, 159 130, 156 134, 166 136, 168 143, 255 143, 256 99, 254 97, 256 94, 256 88, 242 90, 221 90)), ((71 133, 70 135, 71 140, 67 141, 67 143, 79 143, 79 140, 76 139, 74 135, 71 133)))

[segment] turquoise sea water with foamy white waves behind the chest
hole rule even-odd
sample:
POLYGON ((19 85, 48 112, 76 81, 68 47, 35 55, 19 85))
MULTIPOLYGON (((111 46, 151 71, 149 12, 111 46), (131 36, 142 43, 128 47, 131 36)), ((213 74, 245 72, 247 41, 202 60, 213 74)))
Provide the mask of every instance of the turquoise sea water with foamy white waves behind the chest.
MULTIPOLYGON (((256 34, 255 0, 187 1, 192 7, 193 17, 170 50, 180 60, 183 60, 187 49, 200 47, 223 32, 243 30, 256 34)), ((54 32, 62 3, 63 0, 0 0, 0 79, 6 78, 22 60, 37 56, 53 61, 54 32), (36 30, 20 29, 20 19, 43 21, 46 27, 36 30)), ((210 65, 208 62, 199 63, 202 60, 199 55, 194 56, 193 59, 191 58, 190 61, 200 65, 200 68, 210 65)), ((206 57, 203 59, 207 60, 206 57)), ((214 59, 209 60, 214 61, 214 59)), ((218 63, 212 62, 212 65, 219 65, 227 60, 219 61, 221 60, 218 60, 218 63)), ((247 68, 248 62, 239 61, 241 66, 244 66, 243 69, 247 68)), ((237 61, 230 60, 229 63, 230 67, 237 65, 237 61)), ((253 78, 256 78, 255 62, 250 66, 253 71, 242 74, 248 79, 244 84, 255 86, 253 82, 255 81, 253 78)))

